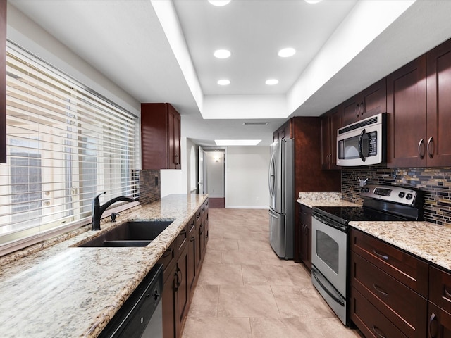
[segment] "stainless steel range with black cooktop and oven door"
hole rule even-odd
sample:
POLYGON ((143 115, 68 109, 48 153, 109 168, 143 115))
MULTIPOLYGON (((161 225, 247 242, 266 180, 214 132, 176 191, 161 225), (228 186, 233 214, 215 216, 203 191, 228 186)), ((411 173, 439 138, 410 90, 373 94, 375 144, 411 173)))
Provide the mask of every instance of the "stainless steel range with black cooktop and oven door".
POLYGON ((311 280, 314 287, 349 325, 347 278, 348 223, 422 218, 421 192, 409 187, 368 185, 360 192, 362 207, 319 206, 311 220, 311 280))

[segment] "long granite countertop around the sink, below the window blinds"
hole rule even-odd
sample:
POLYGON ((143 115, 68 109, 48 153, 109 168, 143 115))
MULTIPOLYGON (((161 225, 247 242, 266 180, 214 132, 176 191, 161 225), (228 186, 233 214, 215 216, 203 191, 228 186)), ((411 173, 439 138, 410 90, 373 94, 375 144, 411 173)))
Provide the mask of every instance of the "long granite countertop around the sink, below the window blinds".
POLYGON ((169 195, 103 223, 99 232, 2 258, 1 337, 97 337, 207 197, 169 195), (76 247, 126 220, 154 219, 174 221, 148 246, 76 247))

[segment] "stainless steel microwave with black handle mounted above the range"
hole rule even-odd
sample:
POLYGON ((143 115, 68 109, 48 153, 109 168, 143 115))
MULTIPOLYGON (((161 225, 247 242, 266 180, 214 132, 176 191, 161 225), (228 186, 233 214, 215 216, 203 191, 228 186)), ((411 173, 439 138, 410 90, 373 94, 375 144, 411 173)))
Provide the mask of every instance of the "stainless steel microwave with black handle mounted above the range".
POLYGON ((357 167, 386 161, 387 114, 373 115, 337 132, 337 165, 357 167))

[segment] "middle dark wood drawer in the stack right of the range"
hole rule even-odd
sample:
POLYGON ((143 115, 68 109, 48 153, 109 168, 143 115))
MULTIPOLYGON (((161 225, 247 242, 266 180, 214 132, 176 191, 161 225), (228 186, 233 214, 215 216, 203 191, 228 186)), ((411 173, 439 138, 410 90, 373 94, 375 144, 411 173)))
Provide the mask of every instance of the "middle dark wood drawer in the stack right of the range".
POLYGON ((426 336, 426 299, 354 252, 351 284, 407 337, 426 336))

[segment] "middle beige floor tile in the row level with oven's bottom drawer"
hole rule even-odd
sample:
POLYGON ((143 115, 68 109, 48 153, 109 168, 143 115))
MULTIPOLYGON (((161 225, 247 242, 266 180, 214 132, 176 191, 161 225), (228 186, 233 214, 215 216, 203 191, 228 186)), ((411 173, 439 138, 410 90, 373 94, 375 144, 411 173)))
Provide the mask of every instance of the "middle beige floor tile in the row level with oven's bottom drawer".
POLYGON ((278 317, 278 308, 266 285, 219 287, 218 317, 278 317))

